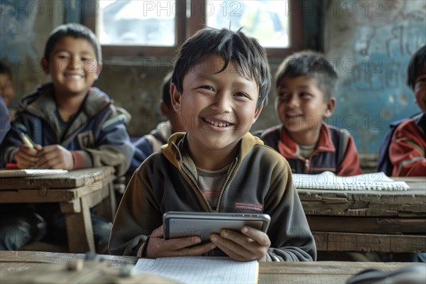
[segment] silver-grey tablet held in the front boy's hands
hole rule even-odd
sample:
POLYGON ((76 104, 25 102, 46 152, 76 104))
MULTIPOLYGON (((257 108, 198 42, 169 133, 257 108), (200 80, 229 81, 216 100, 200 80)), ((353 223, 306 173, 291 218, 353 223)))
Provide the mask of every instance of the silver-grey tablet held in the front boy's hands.
POLYGON ((210 234, 222 229, 240 231, 242 226, 251 226, 266 232, 270 222, 268 214, 169 211, 163 214, 164 239, 200 236, 205 243, 210 234))

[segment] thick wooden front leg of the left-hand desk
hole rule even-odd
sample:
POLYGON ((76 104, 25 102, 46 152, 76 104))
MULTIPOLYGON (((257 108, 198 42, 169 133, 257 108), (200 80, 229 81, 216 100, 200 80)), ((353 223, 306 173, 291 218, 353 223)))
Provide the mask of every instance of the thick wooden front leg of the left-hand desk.
POLYGON ((95 253, 92 219, 86 198, 70 203, 61 202, 60 209, 65 214, 70 252, 95 253))

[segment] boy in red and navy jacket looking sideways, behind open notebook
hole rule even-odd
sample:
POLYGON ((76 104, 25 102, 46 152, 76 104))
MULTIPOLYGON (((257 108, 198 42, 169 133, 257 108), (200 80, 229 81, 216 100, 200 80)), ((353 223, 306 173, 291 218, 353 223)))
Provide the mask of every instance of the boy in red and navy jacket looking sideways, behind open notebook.
POLYGON ((287 158, 293 173, 361 174, 354 139, 323 121, 336 104, 337 73, 326 58, 312 51, 290 55, 275 79, 281 124, 261 133, 266 145, 287 158))

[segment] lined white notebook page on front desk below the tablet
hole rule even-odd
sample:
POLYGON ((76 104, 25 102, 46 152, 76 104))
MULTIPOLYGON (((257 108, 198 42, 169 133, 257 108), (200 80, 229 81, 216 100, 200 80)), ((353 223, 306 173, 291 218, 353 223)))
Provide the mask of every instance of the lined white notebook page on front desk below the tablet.
POLYGON ((180 283, 257 283, 257 261, 233 261, 228 257, 178 256, 139 258, 136 273, 158 274, 180 283))

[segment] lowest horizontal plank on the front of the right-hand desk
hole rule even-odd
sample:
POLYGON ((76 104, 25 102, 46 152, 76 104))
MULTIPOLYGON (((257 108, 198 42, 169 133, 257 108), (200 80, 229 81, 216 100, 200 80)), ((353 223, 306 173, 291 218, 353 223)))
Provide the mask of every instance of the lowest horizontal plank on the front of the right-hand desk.
POLYGON ((426 251, 426 236, 312 231, 318 251, 426 251))

